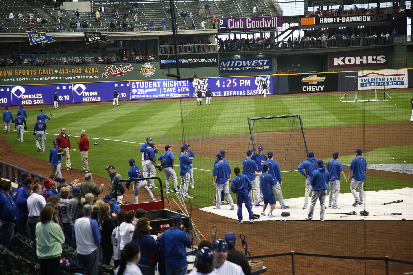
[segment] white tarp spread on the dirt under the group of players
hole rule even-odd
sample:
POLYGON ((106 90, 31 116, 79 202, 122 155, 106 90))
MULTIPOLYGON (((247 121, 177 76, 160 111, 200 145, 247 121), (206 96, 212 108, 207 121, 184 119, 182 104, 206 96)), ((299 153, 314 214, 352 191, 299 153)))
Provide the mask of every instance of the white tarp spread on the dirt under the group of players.
MULTIPOLYGON (((303 189, 304 193, 304 189, 303 189)), ((235 194, 231 193, 233 198, 235 198, 235 194)), ((338 198, 338 206, 340 209, 334 209, 328 207, 328 195, 326 198, 326 206, 325 209, 325 221, 329 220, 338 220, 338 221, 353 221, 353 220, 413 220, 413 188, 402 188, 402 189, 395 189, 395 190, 380 190, 378 192, 368 191, 364 192, 365 199, 363 206, 353 207, 352 204, 354 203, 354 197, 351 193, 340 193, 338 198), (394 200, 404 200, 404 202, 394 203, 394 204, 387 204, 382 205, 385 202, 392 202, 394 200), (340 217, 339 214, 327 214, 327 212, 335 212, 341 213, 346 212, 349 213, 350 211, 356 211, 357 214, 361 210, 366 210, 369 212, 369 216, 345 216, 340 217), (399 213, 401 215, 398 216, 373 216, 373 214, 385 214, 385 213, 399 213)), ((303 221, 309 213, 309 210, 303 210, 303 203, 304 197, 298 197, 294 199, 284 200, 285 204, 288 205, 289 209, 280 209, 280 204, 277 201, 277 205, 273 211, 273 214, 276 216, 273 218, 268 218, 267 216, 260 217, 256 221, 303 221), (290 212, 289 217, 282 217, 282 212, 290 212)), ((309 203, 311 202, 311 198, 309 198, 309 203)), ((270 205, 266 209, 266 213, 269 213, 270 205)), ((230 206, 228 204, 221 204, 221 209, 214 209, 214 206, 204 207, 201 210, 214 213, 220 216, 224 216, 230 219, 237 219, 237 204, 235 204, 234 210, 230 210, 230 206)), ((256 208, 253 207, 252 211, 254 214, 261 214, 262 207, 256 208)), ((244 222, 248 221, 248 212, 245 208, 245 205, 242 204, 242 216, 244 222)), ((320 203, 316 204, 313 220, 320 220, 320 203)))

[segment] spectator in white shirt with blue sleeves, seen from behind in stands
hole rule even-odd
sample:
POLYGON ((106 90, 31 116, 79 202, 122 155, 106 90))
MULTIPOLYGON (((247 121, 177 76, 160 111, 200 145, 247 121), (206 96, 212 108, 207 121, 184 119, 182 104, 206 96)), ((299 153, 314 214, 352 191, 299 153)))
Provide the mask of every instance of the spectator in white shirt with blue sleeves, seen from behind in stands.
POLYGON ((98 249, 100 247, 99 225, 93 219, 92 206, 83 207, 83 217, 76 219, 72 229, 72 240, 77 244, 77 261, 87 266, 88 274, 97 275, 99 271, 98 249))

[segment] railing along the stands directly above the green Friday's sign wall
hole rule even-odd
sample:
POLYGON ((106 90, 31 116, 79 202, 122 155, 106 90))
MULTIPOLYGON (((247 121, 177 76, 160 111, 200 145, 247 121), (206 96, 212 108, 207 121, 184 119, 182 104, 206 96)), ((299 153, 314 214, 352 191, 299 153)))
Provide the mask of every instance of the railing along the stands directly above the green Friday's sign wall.
POLYGON ((61 66, 61 65, 93 65, 93 64, 119 64, 119 63, 147 63, 158 62, 158 56, 142 56, 142 57, 73 57, 73 58, 55 58, 55 59, 6 59, 2 60, 0 67, 14 66, 61 66))

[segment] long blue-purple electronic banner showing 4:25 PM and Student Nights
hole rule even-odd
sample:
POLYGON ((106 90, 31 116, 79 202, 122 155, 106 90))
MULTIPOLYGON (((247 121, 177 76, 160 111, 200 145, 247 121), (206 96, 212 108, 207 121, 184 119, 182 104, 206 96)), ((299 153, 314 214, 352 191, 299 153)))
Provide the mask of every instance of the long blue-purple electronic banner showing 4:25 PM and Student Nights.
POLYGON ((112 101, 113 89, 119 100, 195 98, 202 96, 208 88, 212 96, 249 96, 263 94, 263 83, 267 94, 273 93, 271 76, 197 78, 189 80, 145 80, 122 82, 96 82, 77 84, 16 85, 0 86, 0 106, 36 105, 53 103, 57 91, 60 103, 112 101))

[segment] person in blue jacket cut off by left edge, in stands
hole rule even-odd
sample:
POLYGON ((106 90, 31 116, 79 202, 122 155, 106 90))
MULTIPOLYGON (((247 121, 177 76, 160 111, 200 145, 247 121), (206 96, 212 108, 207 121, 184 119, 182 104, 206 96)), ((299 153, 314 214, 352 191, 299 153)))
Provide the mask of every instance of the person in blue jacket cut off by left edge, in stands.
POLYGON ((13 250, 14 226, 17 223, 17 218, 12 198, 9 196, 12 191, 12 183, 2 181, 2 191, 0 192, 1 244, 7 249, 13 250))

